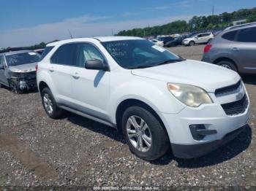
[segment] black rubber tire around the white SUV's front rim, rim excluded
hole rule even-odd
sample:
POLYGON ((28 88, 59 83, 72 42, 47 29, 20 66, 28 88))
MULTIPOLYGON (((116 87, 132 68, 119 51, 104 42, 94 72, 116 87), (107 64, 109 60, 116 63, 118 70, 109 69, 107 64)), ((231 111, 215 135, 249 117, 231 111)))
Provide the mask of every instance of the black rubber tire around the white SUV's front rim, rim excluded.
MULTIPOLYGON (((143 160, 156 160, 157 158, 162 157, 162 155, 165 155, 167 149, 170 147, 170 141, 167 137, 165 128, 162 127, 161 123, 159 120, 157 120, 157 117, 155 117, 154 114, 149 112, 147 109, 144 109, 143 107, 130 106, 128 109, 126 109, 122 117, 121 128, 124 134, 124 139, 126 139, 131 152, 143 160), (132 116, 140 117, 146 122, 146 125, 148 125, 148 129, 150 130, 151 135, 151 147, 149 147, 147 151, 143 152, 135 148, 135 146, 132 144, 132 141, 129 140, 127 124, 129 118, 132 116)), ((141 140, 146 146, 145 139, 141 140)))

